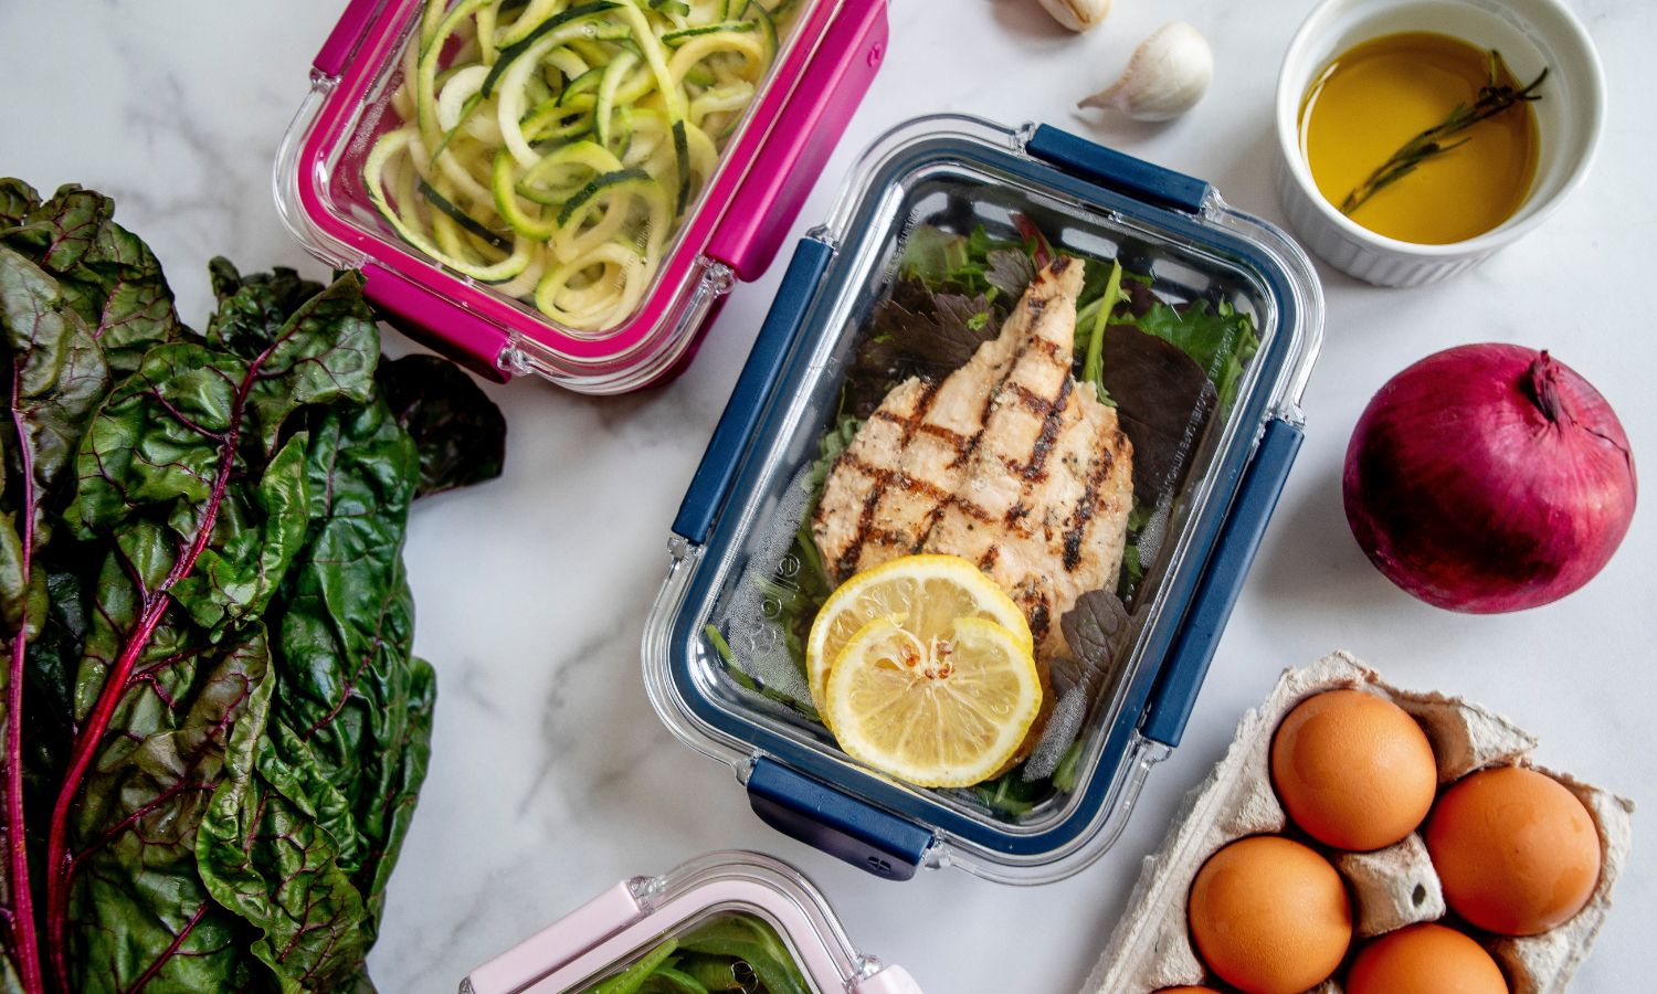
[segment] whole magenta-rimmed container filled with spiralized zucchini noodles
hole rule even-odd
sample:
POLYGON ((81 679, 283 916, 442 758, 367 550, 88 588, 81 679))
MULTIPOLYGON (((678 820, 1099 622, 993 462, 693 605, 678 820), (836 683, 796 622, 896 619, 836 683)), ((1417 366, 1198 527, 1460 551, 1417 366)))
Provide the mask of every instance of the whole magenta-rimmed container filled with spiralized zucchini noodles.
MULTIPOLYGON (((447 5, 444 0, 351 0, 316 53, 310 94, 277 154, 277 205, 288 229, 316 258, 338 268, 361 268, 370 300, 388 311, 403 331, 471 369, 500 381, 519 373, 539 373, 570 389, 595 394, 638 389, 681 368, 731 287, 759 277, 771 265, 835 141, 868 89, 885 45, 885 0, 456 0, 447 5), (449 20, 451 15, 454 22, 449 20), (542 25, 540 33, 525 28, 514 35, 515 22, 529 23, 530 18, 542 25), (684 27, 673 30, 674 23, 668 18, 684 27), (709 18, 717 23, 704 23, 709 18), (451 23, 464 23, 474 36, 444 33, 444 27, 451 23), (638 31, 643 31, 646 23, 653 25, 650 45, 628 38, 628 25, 638 25, 638 31), (553 53, 567 53, 560 63, 562 73, 553 65, 557 60, 542 61, 548 56, 545 45, 539 43, 550 41, 548 28, 557 28, 560 38, 570 38, 567 50, 553 53), (611 119, 611 108, 625 104, 631 80, 643 78, 648 86, 651 66, 661 71, 658 78, 688 80, 678 63, 669 75, 664 60, 684 53, 693 43, 706 48, 711 38, 704 35, 716 30, 744 38, 742 45, 749 48, 761 41, 746 38, 769 36, 764 43, 764 73, 744 81, 747 91, 742 106, 722 114, 717 101, 724 89, 713 81, 706 88, 691 83, 661 86, 658 106, 671 106, 666 98, 669 91, 711 101, 703 106, 716 106, 717 129, 713 138, 693 128, 693 141, 686 142, 683 121, 688 118, 683 108, 688 106, 694 114, 696 103, 683 103, 688 99, 684 96, 676 98, 681 99, 678 114, 671 109, 640 111, 641 121, 650 114, 674 121, 673 149, 664 154, 668 162, 676 154, 679 164, 678 204, 640 222, 646 234, 640 234, 635 242, 638 257, 648 260, 646 265, 621 260, 611 267, 615 273, 630 275, 613 275, 601 263, 583 270, 575 262, 558 262, 550 248, 543 253, 534 237, 525 237, 522 227, 507 227, 507 212, 495 212, 481 189, 490 182, 487 166, 476 166, 474 179, 459 177, 461 192, 451 189, 447 199, 434 195, 454 176, 454 159, 441 164, 439 156, 459 156, 461 146, 479 129, 494 129, 497 141, 504 141, 499 139, 504 129, 495 124, 497 116, 507 123, 517 119, 517 136, 535 138, 539 133, 532 134, 529 123, 539 109, 537 101, 547 106, 568 103, 575 108, 597 103, 605 111, 601 119, 610 124, 603 129, 595 124, 593 134, 585 138, 519 142, 512 151, 520 156, 520 164, 534 162, 537 156, 550 157, 568 144, 585 142, 597 144, 603 152, 615 152, 618 157, 613 162, 620 167, 635 147, 630 144, 635 131, 628 123, 623 134, 616 136, 616 124, 626 123, 626 114, 611 119), (484 35, 490 38, 487 43, 482 41, 484 35), (510 45, 514 36, 519 36, 517 50, 510 45), (437 38, 437 43, 431 38, 437 38), (505 45, 495 45, 497 38, 505 45), (532 46, 529 53, 524 53, 525 46, 532 46), (534 78, 524 78, 529 76, 525 73, 489 71, 494 63, 505 65, 515 53, 524 55, 524 63, 537 63, 534 78), (600 78, 610 76, 601 70, 621 63, 616 55, 623 55, 626 65, 620 66, 616 81, 600 83, 600 78), (605 58, 610 63, 601 61, 605 58), (461 89, 456 96, 464 96, 467 73, 477 99, 486 101, 484 111, 476 114, 477 101, 462 103, 444 93, 461 89), (582 80, 583 75, 587 80, 582 80), (411 78, 414 83, 409 83, 411 78), (507 111, 497 108, 505 104, 504 94, 514 81, 524 86, 524 93, 515 98, 522 101, 522 118, 509 118, 507 111), (419 83, 428 84, 424 103, 414 103, 419 99, 414 94, 423 93, 419 83), (495 103, 487 103, 490 98, 495 103), (436 139, 439 131, 421 131, 423 106, 436 108, 431 111, 434 123, 439 114, 451 119, 459 116, 459 123, 444 134, 462 138, 452 146, 447 139, 429 141, 436 151, 426 144, 413 146, 426 154, 416 154, 413 147, 406 152, 404 174, 409 182, 399 199, 391 181, 371 184, 365 171, 383 169, 374 162, 374 149, 398 129, 436 139), (694 174, 686 162, 696 166, 694 174), (421 195, 409 195, 416 181, 421 195), (378 200, 371 195, 371 186, 379 191, 378 200), (462 200, 462 194, 471 199, 462 200), (413 204, 421 197, 424 199, 418 205, 413 204), (437 217, 437 210, 446 219, 437 217), (411 220, 399 230, 396 214, 428 215, 432 219, 432 230, 451 220, 461 222, 464 232, 451 234, 446 245, 464 242, 467 260, 477 260, 481 268, 471 270, 459 265, 459 257, 436 252, 437 235, 416 245, 406 237, 408 230, 423 237, 424 229, 411 220), (669 224, 655 224, 650 234, 656 217, 668 219, 669 224), (534 257, 527 268, 510 278, 490 278, 500 268, 486 267, 499 262, 492 253, 504 257, 520 252, 534 257), (553 270, 557 273, 548 277, 553 270), (548 280, 557 285, 553 290, 547 290, 548 280), (575 293, 572 287, 608 288, 626 280, 635 282, 618 292, 615 308, 601 311, 605 316, 593 321, 558 320, 555 315, 572 311, 547 303, 558 300, 558 290, 575 293)), ((708 65, 736 65, 731 60, 739 58, 741 51, 716 53, 708 63, 693 65, 693 70, 708 75, 708 65)), ((570 114, 565 119, 580 128, 580 113, 570 114)), ((600 114, 595 113, 592 119, 598 121, 600 114)), ((563 124, 555 124, 553 129, 558 128, 568 131, 563 124)), ((668 134, 664 128, 666 124, 658 126, 656 133, 656 141, 663 144, 668 134)), ((486 139, 479 139, 482 141, 486 139)), ((640 142, 643 147, 643 139, 640 142)), ((595 156, 606 157, 601 152, 595 156)), ((482 156, 472 156, 471 161, 482 162, 482 156)), ((641 172, 636 167, 606 172, 595 164, 585 174, 592 177, 588 189, 562 200, 562 210, 560 202, 552 197, 539 199, 540 204, 548 204, 543 207, 529 204, 529 209, 539 212, 530 222, 562 229, 573 212, 570 227, 580 229, 575 235, 593 234, 600 224, 592 219, 606 217, 613 202, 606 199, 613 197, 605 192, 610 189, 606 182, 641 172), (595 197, 595 191, 603 195, 595 197), (572 210, 577 205, 590 210, 572 210), (582 229, 583 214, 590 219, 587 229, 582 229)), ((577 189, 583 174, 560 172, 572 174, 577 176, 572 189, 577 189)), ((529 179, 525 174, 524 182, 529 179)), ((507 189, 512 189, 510 184, 507 189)), ((529 195, 527 187, 519 189, 529 195)), ((500 194, 494 195, 499 204, 500 194)), ((671 195, 663 197, 663 202, 671 204, 671 195)), ((522 214, 525 202, 514 199, 514 204, 522 214)), ((570 232, 558 237, 565 234, 570 232)), ((545 244, 550 247, 555 242, 547 239, 545 244)), ((625 240, 618 239, 616 245, 620 248, 610 247, 611 257, 618 252, 625 255, 625 240)))

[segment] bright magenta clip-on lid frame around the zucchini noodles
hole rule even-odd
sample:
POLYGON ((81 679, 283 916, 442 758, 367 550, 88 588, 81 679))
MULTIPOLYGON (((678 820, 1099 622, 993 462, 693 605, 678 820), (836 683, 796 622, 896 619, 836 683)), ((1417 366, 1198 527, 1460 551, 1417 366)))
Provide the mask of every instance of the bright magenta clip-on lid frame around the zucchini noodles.
MULTIPOLYGON (((620 361, 646 364, 684 348, 703 313, 693 292, 713 263, 754 278, 771 263, 835 138, 867 91, 886 43, 885 0, 802 0, 782 58, 749 109, 747 124, 691 209, 638 311, 623 325, 583 333, 553 325, 529 305, 426 260, 338 204, 360 200, 353 174, 374 131, 370 108, 411 38, 423 0, 353 0, 315 60, 320 108, 298 142, 297 199, 307 220, 365 268, 371 295, 429 336, 486 366, 512 338, 529 340, 573 369, 620 361), (353 159, 353 156, 356 156, 353 159), (403 280, 404 288, 393 283, 403 280), (423 293, 424 292, 424 293, 423 293)), ((477 364, 474 363, 474 364, 477 364)))

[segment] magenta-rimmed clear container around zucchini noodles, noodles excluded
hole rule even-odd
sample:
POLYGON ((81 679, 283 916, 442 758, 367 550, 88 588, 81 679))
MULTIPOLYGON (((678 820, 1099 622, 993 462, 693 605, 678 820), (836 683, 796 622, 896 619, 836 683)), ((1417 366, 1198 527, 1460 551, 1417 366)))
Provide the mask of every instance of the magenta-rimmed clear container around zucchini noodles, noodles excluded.
POLYGON ((537 373, 595 394, 674 374, 731 287, 771 265, 886 50, 886 0, 800 0, 771 75, 643 303, 613 328, 580 331, 424 257, 368 200, 363 159, 389 123, 383 111, 423 7, 348 3, 277 152, 277 207, 312 255, 361 268, 368 298, 409 336, 492 379, 537 373))

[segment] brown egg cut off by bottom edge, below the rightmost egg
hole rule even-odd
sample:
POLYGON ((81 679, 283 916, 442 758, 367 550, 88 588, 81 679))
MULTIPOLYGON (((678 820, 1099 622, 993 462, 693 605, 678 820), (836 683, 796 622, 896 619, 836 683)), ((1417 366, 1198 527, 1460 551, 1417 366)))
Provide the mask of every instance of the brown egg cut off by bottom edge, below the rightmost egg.
POLYGON ((1490 953, 1442 924, 1412 924, 1364 946, 1345 994, 1508 994, 1490 953))

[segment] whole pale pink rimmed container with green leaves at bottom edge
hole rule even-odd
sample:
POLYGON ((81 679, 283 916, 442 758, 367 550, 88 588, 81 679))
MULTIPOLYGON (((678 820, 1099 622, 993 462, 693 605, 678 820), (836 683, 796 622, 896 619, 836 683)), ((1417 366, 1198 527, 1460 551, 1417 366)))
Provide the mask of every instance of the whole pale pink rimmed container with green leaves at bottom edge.
POLYGON ((474 969, 461 981, 461 994, 698 986, 764 994, 921 994, 903 967, 858 954, 828 903, 797 870, 746 852, 711 853, 663 876, 618 883, 474 969), (752 959, 766 963, 746 963, 739 953, 749 948, 764 948, 752 959), (709 969, 732 976, 708 987, 709 969), (645 974, 655 971, 671 976, 646 982, 645 974))

